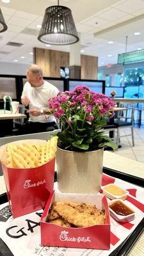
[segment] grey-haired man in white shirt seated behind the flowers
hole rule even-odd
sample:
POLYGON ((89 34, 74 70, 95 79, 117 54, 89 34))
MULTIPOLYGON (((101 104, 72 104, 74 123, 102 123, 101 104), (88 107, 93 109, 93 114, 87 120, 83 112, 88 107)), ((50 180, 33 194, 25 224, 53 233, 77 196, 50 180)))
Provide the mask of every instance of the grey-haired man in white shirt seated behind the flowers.
POLYGON ((54 116, 46 119, 45 110, 47 109, 48 100, 59 92, 58 88, 44 81, 42 69, 38 65, 31 65, 26 72, 26 76, 28 82, 24 84, 21 102, 24 106, 29 106, 29 120, 25 125, 22 125, 20 133, 28 134, 56 129, 56 119, 54 116))

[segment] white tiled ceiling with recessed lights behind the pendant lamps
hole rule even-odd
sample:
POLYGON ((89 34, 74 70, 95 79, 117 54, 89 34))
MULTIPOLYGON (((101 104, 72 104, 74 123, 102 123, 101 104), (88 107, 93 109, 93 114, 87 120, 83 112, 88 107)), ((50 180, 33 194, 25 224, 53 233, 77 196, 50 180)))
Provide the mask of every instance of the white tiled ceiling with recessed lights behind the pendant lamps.
MULTIPOLYGON (((11 0, 0 7, 8 30, 0 33, 0 61, 31 64, 33 47, 45 47, 37 40, 45 8, 57 4, 56 0, 11 0), (34 30, 30 30, 34 29, 34 30), (20 47, 6 45, 8 42, 22 44, 20 47), (21 58, 24 56, 25 58, 21 58)), ((118 53, 125 52, 125 36, 128 36, 127 51, 138 47, 144 49, 144 0, 60 0, 72 10, 77 31, 81 33, 83 54, 99 56, 99 66, 117 62, 118 53), (142 15, 141 17, 139 17, 142 15), (139 17, 138 20, 127 20, 139 17), (113 28, 115 26, 115 28, 113 28), (134 32, 140 32, 134 36, 134 32), (113 41, 113 44, 108 44, 113 41), (111 57, 108 57, 111 54, 111 57)), ((49 49, 69 51, 69 46, 54 46, 49 49)))

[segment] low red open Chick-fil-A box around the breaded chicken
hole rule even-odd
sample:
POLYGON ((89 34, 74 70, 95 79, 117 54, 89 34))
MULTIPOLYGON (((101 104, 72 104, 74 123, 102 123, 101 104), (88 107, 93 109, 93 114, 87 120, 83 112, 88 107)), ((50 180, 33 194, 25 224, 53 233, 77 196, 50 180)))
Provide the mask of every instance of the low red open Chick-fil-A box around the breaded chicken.
POLYGON ((42 246, 60 246, 108 250, 110 248, 110 220, 106 196, 96 194, 51 193, 40 221, 42 246), (47 215, 53 201, 84 202, 105 209, 106 221, 103 225, 84 228, 61 227, 48 223, 47 215))

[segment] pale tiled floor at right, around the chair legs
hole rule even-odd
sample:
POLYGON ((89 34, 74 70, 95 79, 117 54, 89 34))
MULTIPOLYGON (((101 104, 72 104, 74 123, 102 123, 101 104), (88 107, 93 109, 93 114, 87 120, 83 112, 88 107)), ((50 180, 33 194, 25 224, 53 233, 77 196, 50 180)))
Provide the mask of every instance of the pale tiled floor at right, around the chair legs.
MULTIPOLYGON (((120 134, 131 134, 131 129, 120 129, 120 134)), ((134 147, 132 147, 131 136, 120 138, 122 148, 118 148, 116 154, 144 164, 144 125, 141 125, 141 128, 134 127, 134 144, 134 147)))

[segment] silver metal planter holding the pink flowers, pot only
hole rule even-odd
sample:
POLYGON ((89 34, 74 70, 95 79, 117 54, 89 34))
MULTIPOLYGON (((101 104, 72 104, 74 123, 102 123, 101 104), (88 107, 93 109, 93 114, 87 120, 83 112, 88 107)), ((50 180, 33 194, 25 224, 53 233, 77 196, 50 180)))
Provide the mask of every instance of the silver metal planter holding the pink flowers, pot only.
POLYGON ((67 193, 98 193, 102 182, 103 148, 73 152, 58 148, 58 189, 67 193))

